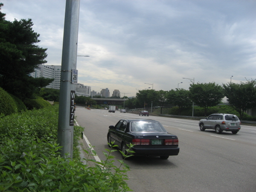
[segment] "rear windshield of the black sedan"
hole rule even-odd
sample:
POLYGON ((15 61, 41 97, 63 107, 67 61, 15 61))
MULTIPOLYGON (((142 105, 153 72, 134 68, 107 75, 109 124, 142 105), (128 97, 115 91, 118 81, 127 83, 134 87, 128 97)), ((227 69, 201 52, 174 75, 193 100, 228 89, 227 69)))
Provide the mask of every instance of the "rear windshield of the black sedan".
POLYGON ((167 131, 159 122, 137 121, 131 122, 131 132, 162 132, 167 131))

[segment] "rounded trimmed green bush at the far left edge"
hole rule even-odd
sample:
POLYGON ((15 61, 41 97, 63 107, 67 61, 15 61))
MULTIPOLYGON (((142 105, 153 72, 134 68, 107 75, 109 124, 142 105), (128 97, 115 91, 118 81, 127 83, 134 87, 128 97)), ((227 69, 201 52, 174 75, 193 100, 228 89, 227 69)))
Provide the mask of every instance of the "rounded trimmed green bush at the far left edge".
POLYGON ((0 113, 2 113, 3 116, 6 116, 17 112, 18 110, 15 100, 9 93, 0 87, 0 113))

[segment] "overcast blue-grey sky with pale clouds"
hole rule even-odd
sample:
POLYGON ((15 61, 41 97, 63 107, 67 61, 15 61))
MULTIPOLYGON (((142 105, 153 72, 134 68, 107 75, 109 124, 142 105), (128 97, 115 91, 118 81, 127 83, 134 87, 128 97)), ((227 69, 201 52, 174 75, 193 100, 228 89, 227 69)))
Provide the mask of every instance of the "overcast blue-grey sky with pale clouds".
MULTIPOLYGON (((47 64, 61 65, 66 1, 0 2, 6 20, 32 19, 47 64)), ((81 0, 78 55, 90 55, 78 82, 110 95, 256 79, 256 0, 81 0)))

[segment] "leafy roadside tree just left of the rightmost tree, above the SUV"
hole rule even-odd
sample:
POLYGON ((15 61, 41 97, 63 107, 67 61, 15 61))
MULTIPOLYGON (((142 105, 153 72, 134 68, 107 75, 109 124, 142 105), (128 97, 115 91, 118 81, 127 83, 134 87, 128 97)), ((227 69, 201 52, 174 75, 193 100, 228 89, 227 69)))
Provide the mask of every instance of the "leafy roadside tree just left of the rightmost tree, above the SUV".
POLYGON ((189 91, 190 99, 204 108, 204 116, 208 107, 218 105, 224 97, 223 88, 215 82, 190 84, 189 91))

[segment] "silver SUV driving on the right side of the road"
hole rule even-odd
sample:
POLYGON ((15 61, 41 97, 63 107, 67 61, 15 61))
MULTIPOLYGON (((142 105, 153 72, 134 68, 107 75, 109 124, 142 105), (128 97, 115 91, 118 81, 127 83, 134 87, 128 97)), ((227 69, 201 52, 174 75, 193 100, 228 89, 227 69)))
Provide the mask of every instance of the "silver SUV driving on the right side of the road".
POLYGON ((205 129, 214 129, 217 134, 222 131, 231 131, 233 134, 241 129, 241 122, 236 115, 228 113, 214 113, 205 119, 199 121, 201 131, 205 129))

